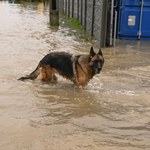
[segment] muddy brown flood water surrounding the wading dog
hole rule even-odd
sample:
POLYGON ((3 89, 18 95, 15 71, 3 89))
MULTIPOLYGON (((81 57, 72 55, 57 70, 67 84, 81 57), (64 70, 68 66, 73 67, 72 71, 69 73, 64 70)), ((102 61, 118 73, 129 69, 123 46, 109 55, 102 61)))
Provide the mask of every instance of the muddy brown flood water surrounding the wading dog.
POLYGON ((50 51, 90 48, 48 18, 42 3, 0 1, 0 150, 149 150, 150 42, 103 49, 104 69, 84 89, 17 81, 50 51))

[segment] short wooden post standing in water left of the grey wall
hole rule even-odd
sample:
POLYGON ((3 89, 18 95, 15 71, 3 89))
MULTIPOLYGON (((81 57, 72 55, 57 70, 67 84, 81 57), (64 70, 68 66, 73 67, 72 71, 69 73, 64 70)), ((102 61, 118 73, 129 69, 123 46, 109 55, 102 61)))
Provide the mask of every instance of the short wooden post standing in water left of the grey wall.
POLYGON ((59 26, 59 11, 57 7, 57 0, 50 0, 49 3, 49 18, 51 26, 59 26))

